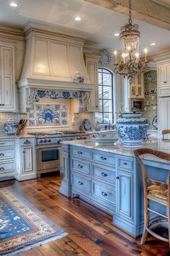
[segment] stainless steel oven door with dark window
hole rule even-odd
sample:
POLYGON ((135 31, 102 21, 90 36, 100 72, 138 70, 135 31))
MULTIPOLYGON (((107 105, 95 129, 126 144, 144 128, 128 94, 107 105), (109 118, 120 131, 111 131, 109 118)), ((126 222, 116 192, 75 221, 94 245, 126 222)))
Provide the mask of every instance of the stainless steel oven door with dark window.
POLYGON ((45 173, 60 170, 61 146, 37 147, 37 172, 45 173))

